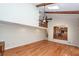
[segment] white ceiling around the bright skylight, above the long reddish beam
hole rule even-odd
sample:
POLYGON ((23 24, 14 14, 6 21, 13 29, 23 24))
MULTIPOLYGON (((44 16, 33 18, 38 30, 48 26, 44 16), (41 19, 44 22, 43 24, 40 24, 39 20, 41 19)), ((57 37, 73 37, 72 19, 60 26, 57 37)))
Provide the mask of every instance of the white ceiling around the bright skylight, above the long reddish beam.
MULTIPOLYGON (((35 4, 37 5, 37 4, 35 4)), ((39 10, 42 12, 44 11, 44 6, 38 7, 39 10)), ((50 4, 45 6, 45 11, 52 12, 52 11, 79 11, 79 3, 57 3, 57 4, 50 4), (49 6, 59 6, 59 9, 51 9, 49 10, 47 7, 49 6)))

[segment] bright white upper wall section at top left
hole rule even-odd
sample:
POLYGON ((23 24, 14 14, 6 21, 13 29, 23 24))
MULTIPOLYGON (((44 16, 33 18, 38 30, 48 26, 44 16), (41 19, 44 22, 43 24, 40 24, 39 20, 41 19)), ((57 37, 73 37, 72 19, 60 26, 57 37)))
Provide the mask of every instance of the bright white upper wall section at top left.
POLYGON ((1 3, 0 20, 38 26, 39 10, 31 3, 1 3))

